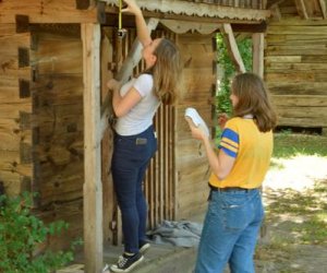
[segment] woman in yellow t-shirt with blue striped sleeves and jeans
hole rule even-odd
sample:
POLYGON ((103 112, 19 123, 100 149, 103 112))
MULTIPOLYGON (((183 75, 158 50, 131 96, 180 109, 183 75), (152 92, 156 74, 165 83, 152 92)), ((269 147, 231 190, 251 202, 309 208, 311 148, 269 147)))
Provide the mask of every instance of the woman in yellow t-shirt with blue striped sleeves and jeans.
POLYGON ((192 127, 204 143, 211 167, 209 204, 195 273, 254 272, 253 254, 264 218, 259 187, 272 153, 276 114, 261 78, 239 74, 231 86, 233 117, 225 124, 218 154, 207 134, 192 127))

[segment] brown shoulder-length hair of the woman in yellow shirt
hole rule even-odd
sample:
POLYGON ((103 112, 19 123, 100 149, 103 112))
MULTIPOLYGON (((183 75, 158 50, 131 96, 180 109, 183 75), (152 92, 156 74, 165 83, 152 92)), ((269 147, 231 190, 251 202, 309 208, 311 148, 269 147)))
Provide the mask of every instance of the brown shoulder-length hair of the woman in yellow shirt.
POLYGON ((253 115, 262 132, 268 132, 276 127, 276 112, 265 83, 259 76, 253 73, 239 74, 234 78, 231 90, 239 98, 233 108, 235 117, 253 115))

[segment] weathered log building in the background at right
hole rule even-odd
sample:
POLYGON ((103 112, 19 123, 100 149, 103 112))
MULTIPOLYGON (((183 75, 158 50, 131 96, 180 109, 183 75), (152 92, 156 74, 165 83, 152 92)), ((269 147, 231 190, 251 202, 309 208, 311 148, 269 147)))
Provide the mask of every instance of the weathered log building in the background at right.
POLYGON ((327 2, 268 1, 265 79, 279 126, 327 132, 327 2))

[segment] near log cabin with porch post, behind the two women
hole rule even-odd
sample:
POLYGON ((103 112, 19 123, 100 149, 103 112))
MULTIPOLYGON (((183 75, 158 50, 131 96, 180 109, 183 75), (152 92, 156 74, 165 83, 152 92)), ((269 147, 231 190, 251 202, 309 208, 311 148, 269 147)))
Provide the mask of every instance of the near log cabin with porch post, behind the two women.
MULTIPOLYGON (((155 117, 159 151, 144 185, 148 228, 154 228, 206 206, 208 166, 183 114, 196 107, 213 126, 215 33, 225 35, 239 71, 244 64, 237 34, 252 36, 253 70, 263 75, 270 11, 265 0, 137 2, 153 36, 175 40, 184 60, 179 103, 160 107, 155 117)), ((134 19, 124 15, 123 27, 128 34, 120 39, 113 0, 0 0, 0 180, 9 195, 39 192, 36 213, 70 224, 69 233, 48 247, 64 248, 84 237, 85 270, 92 273, 101 272, 104 241, 121 241, 109 171, 106 82, 129 79, 143 68, 134 19)))

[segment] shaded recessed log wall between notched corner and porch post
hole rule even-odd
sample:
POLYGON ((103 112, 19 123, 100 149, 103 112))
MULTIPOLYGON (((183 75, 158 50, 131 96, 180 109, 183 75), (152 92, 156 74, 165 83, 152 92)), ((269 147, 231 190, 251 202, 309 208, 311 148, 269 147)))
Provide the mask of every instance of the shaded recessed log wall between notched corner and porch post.
POLYGON ((69 233, 51 247, 83 237, 83 57, 77 24, 32 26, 33 190, 47 222, 63 219, 69 233))

